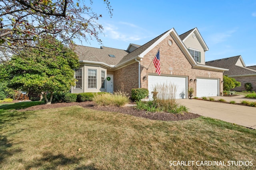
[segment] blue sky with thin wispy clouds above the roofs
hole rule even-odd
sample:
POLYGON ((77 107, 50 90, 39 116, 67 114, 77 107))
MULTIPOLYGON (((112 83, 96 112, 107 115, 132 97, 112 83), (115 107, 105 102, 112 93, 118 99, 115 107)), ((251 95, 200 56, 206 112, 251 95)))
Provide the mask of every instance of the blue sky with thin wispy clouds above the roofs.
MULTIPOLYGON (((241 55, 246 66, 256 65, 256 0, 110 0, 110 18, 103 1, 94 0, 92 10, 103 17, 103 45, 127 49, 143 45, 174 28, 180 35, 197 27, 206 42, 206 61, 241 55)), ((81 45, 81 43, 77 42, 81 45)), ((101 45, 94 39, 90 44, 101 45)))

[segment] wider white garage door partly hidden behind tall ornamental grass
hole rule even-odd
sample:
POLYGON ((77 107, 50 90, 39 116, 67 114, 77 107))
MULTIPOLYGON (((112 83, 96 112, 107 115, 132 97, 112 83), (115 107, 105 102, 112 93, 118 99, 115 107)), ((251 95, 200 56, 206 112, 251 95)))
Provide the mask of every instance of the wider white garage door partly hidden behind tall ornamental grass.
POLYGON ((186 98, 186 77, 175 77, 175 76, 148 76, 148 91, 149 100, 152 100, 152 91, 157 84, 174 84, 176 85, 176 99, 186 98))

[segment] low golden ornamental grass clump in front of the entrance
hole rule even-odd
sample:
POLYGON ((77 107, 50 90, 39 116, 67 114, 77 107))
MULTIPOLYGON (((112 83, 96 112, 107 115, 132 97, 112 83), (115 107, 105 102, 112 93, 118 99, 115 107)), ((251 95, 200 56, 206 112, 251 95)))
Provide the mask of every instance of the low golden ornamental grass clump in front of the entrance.
POLYGON ((126 92, 117 91, 113 94, 110 93, 96 93, 94 94, 93 101, 98 106, 124 106, 129 102, 129 96, 126 92))

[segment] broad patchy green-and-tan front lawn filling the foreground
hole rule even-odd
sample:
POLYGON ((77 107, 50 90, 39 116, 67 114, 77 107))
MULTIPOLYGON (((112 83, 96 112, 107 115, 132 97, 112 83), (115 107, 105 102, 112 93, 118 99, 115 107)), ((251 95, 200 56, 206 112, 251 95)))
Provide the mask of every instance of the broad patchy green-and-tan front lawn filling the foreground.
POLYGON ((256 168, 256 131, 216 119, 167 122, 80 106, 0 107, 1 170, 256 168), (249 160, 253 166, 170 167, 170 160, 249 160))

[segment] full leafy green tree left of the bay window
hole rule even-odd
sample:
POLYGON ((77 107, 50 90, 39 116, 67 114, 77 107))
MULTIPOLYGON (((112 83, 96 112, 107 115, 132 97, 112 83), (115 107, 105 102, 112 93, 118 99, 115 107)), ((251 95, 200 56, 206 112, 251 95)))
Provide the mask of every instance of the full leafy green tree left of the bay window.
POLYGON ((74 69, 79 66, 78 56, 52 36, 40 39, 36 47, 50 51, 46 53, 37 48, 30 49, 33 53, 20 51, 10 61, 0 64, 0 79, 6 80, 11 88, 41 93, 46 104, 51 104, 54 92, 66 92, 75 85, 74 69))

